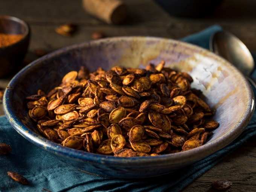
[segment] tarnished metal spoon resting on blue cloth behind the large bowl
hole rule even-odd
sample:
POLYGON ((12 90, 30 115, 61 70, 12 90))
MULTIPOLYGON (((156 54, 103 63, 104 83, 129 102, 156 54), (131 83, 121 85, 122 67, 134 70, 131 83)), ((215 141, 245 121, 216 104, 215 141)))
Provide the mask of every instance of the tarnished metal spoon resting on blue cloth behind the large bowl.
POLYGON ((232 63, 256 88, 256 81, 249 77, 254 69, 253 56, 235 35, 227 31, 216 32, 210 38, 210 50, 232 63))

